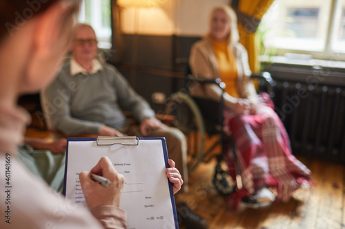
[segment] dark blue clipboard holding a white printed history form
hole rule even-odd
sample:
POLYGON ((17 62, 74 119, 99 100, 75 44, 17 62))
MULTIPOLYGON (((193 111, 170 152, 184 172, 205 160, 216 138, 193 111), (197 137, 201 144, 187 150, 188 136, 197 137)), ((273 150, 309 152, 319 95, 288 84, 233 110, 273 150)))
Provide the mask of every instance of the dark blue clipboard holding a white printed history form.
POLYGON ((168 151, 165 138, 68 138, 63 195, 86 206, 79 182, 104 155, 125 177, 120 208, 127 211, 128 228, 178 229, 172 183, 166 177, 168 151))

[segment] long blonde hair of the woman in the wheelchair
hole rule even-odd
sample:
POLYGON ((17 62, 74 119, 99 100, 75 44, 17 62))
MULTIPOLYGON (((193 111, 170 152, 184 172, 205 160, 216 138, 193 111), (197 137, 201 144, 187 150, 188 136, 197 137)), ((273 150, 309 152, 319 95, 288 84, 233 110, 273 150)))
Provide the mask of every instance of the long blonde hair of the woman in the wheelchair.
MULTIPOLYGON (((228 43, 232 45, 237 44, 239 42, 239 32, 237 29, 237 16, 236 16, 235 10, 233 10, 233 8, 227 5, 217 6, 213 8, 213 10, 210 12, 210 21, 213 18, 213 14, 215 14, 215 12, 218 10, 225 12, 230 22, 230 32, 226 38, 228 39, 228 43)), ((208 32, 208 36, 210 36, 210 32, 208 32)))

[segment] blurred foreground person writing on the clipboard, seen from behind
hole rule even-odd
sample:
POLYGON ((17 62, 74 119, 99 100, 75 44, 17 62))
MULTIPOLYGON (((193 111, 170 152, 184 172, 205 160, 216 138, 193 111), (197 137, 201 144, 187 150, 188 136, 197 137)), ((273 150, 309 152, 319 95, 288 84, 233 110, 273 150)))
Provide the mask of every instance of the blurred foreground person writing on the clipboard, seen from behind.
MULTIPOLYGON (((28 113, 17 107, 17 99, 39 91, 55 76, 70 44, 78 8, 77 0, 0 3, 0 228, 126 228, 126 212, 119 208, 124 177, 108 157, 79 175, 83 192, 89 194, 88 210, 55 193, 15 155, 30 121, 28 113), (90 178, 90 172, 112 184, 104 188, 90 178)), ((177 192, 182 184, 179 172, 168 168, 166 173, 177 192)))

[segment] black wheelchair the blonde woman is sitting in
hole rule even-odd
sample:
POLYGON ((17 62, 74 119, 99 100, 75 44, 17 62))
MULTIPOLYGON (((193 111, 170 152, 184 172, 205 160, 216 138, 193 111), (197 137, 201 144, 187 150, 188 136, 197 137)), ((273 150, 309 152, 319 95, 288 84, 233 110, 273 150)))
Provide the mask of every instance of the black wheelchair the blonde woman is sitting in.
MULTIPOLYGON (((267 92, 270 97, 274 96, 273 85, 275 81, 268 72, 252 74, 251 79, 258 80, 257 92, 267 92)), ((217 158, 213 184, 221 195, 230 195, 235 188, 242 188, 242 178, 237 165, 235 142, 223 131, 223 110, 224 101, 221 96, 220 102, 207 98, 197 98, 190 95, 188 88, 193 84, 217 85, 224 93, 225 84, 220 78, 215 80, 195 78, 193 74, 186 76, 186 89, 181 89, 170 95, 166 100, 165 114, 172 116, 170 125, 180 129, 187 138, 187 164, 188 170, 193 171, 200 162, 210 162, 217 158), (206 144, 206 140, 215 138, 213 144, 206 144), (222 154, 225 146, 230 146, 235 162, 235 181, 228 175, 222 166, 222 154), (220 146, 221 151, 215 153, 220 146)))

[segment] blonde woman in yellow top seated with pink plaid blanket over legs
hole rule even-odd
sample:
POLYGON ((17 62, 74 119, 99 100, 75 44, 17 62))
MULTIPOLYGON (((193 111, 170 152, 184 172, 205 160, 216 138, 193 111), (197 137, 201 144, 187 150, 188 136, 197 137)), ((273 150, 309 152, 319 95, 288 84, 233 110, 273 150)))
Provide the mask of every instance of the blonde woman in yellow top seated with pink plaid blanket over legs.
POLYGON ((217 85, 197 84, 190 94, 224 102, 223 130, 233 138, 236 151, 225 147, 223 159, 234 179, 239 179, 238 174, 242 177, 228 197, 229 204, 258 208, 288 201, 294 190, 310 183, 311 171, 292 155, 268 94, 257 95, 250 82, 248 55, 239 43, 234 10, 214 8, 209 31, 193 45, 190 68, 195 78, 221 78, 225 92, 217 85))

